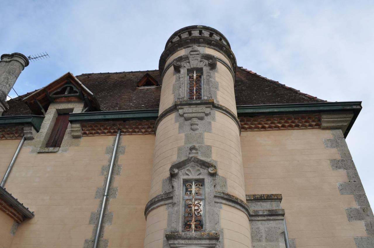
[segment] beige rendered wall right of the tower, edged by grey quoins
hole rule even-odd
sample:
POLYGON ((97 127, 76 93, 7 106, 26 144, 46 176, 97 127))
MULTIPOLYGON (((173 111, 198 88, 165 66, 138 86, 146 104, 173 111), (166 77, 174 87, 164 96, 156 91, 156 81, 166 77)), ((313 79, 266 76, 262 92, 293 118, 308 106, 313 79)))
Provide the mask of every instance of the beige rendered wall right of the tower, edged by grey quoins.
POLYGON ((243 131, 240 136, 247 194, 281 193, 288 235, 297 247, 356 248, 355 236, 367 236, 362 222, 349 222, 353 195, 340 195, 345 171, 332 170, 326 149, 330 130, 243 131))

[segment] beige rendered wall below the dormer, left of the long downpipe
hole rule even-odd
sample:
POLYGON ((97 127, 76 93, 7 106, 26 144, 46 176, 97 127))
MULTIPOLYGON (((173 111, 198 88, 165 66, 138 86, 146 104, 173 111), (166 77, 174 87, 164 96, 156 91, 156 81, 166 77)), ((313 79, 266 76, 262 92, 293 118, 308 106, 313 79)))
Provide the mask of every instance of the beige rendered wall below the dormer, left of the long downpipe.
MULTIPOLYGON (((92 235, 89 218, 98 209, 95 192, 104 181, 101 168, 108 164, 105 149, 113 137, 83 137, 67 153, 21 149, 5 187, 35 217, 18 226, 11 248, 83 247, 92 235)), ((0 147, 14 152, 18 142, 1 141, 0 147)))

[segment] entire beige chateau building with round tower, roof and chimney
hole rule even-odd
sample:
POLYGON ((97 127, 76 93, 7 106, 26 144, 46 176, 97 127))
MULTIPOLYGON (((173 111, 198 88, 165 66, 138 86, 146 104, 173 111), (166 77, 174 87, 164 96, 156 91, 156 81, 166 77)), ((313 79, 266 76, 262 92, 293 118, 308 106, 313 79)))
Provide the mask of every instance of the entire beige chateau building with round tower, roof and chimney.
POLYGON ((0 61, 1 248, 374 247, 345 142, 361 102, 237 66, 200 25, 158 70, 67 72, 6 101, 28 63, 0 61))

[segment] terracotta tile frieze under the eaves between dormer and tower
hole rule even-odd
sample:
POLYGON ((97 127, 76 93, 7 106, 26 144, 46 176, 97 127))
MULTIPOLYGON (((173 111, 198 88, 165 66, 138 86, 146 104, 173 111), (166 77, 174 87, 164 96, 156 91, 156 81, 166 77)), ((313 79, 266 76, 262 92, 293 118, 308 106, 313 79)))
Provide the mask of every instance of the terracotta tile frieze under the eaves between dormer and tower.
POLYGON ((82 123, 82 136, 116 135, 118 128, 122 135, 154 134, 154 123, 154 120, 82 123))

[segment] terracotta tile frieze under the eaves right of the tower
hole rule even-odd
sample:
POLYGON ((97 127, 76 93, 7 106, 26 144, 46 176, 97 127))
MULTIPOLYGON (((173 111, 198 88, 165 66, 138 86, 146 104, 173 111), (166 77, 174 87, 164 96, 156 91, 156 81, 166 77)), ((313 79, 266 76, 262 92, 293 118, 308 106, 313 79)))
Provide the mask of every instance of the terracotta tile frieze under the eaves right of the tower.
POLYGON ((239 117, 242 131, 321 128, 320 114, 239 117))

